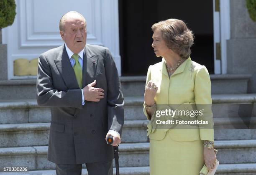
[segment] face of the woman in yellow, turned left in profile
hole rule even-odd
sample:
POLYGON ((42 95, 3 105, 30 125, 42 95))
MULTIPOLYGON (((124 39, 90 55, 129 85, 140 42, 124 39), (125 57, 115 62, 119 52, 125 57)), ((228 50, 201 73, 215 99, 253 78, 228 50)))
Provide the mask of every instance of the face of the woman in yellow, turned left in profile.
POLYGON ((162 32, 159 29, 156 29, 154 31, 154 34, 152 36, 153 43, 152 47, 154 48, 154 52, 157 57, 162 56, 166 58, 166 55, 168 55, 171 50, 167 47, 164 38, 162 36, 162 32))

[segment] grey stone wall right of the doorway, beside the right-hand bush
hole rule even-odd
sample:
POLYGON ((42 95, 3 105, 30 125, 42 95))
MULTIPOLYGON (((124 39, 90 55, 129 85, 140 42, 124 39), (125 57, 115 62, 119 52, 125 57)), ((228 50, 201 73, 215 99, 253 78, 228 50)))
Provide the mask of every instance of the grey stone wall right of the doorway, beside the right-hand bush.
POLYGON ((248 14, 246 0, 230 0, 230 29, 228 74, 252 74, 248 92, 256 93, 256 22, 248 14))

